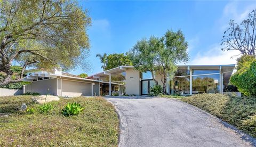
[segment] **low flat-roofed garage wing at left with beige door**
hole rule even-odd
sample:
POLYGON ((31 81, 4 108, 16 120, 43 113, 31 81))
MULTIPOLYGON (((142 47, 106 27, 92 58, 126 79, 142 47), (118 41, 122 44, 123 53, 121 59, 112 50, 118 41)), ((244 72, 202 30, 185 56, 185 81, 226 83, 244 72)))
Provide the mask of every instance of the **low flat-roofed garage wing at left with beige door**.
POLYGON ((37 92, 39 94, 51 94, 63 97, 94 96, 99 93, 99 80, 80 78, 55 70, 53 73, 44 70, 27 70, 25 81, 31 84, 25 85, 23 92, 37 92))

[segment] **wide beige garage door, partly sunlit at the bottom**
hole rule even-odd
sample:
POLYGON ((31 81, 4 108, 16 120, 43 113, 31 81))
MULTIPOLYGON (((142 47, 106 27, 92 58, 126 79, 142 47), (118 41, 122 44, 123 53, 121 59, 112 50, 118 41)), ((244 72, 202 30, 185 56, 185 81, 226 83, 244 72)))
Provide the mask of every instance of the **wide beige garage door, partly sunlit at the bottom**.
POLYGON ((92 84, 62 79, 62 96, 92 96, 92 84))

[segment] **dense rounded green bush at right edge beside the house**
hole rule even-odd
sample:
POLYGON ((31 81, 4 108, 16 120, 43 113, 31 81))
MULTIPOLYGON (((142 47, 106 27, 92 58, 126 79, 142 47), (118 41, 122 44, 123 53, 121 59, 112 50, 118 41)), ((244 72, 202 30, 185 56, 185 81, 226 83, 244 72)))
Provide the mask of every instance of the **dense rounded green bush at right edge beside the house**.
POLYGON ((230 78, 231 84, 235 85, 239 92, 246 96, 256 96, 256 59, 245 62, 243 68, 239 69, 230 78))

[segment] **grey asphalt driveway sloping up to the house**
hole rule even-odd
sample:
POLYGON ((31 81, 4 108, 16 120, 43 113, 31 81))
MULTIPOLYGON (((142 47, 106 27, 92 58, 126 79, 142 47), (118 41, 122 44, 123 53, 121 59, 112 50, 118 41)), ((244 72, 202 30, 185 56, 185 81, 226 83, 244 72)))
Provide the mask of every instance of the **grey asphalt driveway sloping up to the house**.
MULTIPOLYGON (((253 146, 254 138, 192 105, 160 97, 105 97, 120 117, 119 146, 253 146)), ((255 144, 254 144, 255 145, 255 144)))

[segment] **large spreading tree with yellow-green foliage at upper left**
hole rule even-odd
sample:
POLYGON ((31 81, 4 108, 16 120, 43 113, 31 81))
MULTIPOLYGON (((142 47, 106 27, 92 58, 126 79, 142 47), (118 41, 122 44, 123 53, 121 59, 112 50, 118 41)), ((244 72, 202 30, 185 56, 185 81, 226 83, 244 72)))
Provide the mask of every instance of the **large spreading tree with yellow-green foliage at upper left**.
POLYGON ((0 1, 0 86, 21 81, 27 67, 86 68, 90 23, 76 1, 0 1), (22 66, 18 79, 11 79, 13 62, 22 66))

